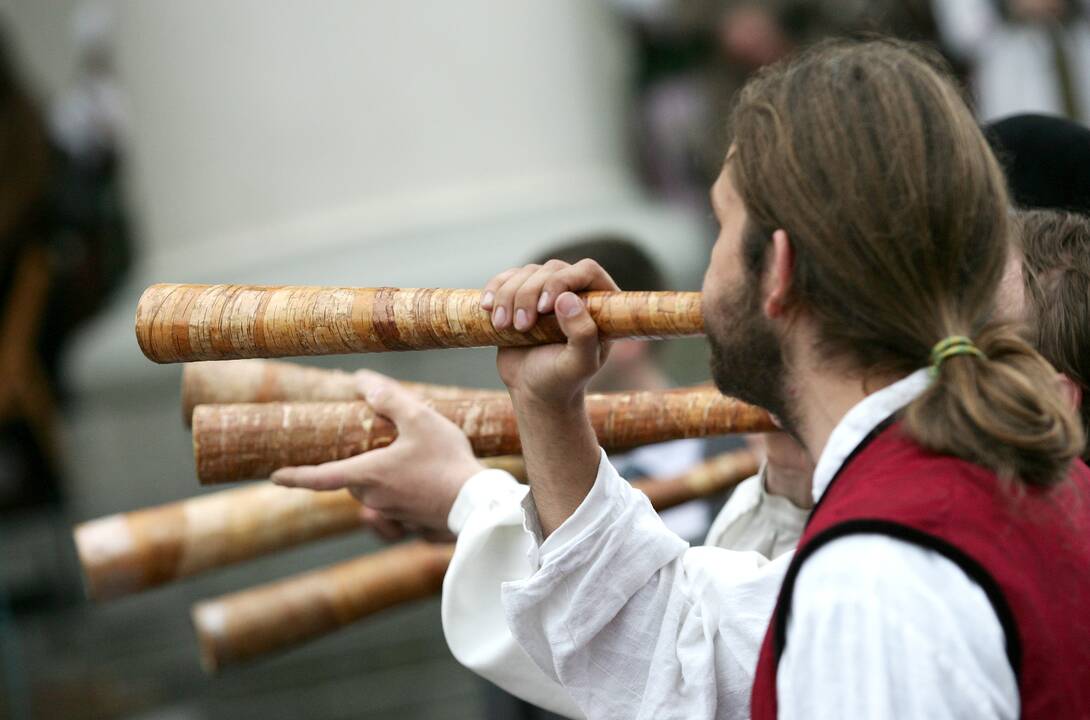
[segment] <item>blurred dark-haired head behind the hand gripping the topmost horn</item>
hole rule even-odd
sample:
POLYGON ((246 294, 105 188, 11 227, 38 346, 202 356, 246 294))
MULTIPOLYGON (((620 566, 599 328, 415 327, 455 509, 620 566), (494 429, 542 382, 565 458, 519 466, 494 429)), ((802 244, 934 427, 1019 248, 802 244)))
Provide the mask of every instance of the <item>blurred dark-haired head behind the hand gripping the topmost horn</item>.
MULTIPOLYGON (((662 270, 645 251, 620 235, 595 234, 549 248, 532 260, 544 265, 550 259, 574 265, 590 258, 601 265, 621 290, 663 291, 662 270)), ((618 340, 609 350, 609 359, 594 377, 591 390, 662 390, 671 382, 658 364, 661 343, 645 340, 618 340)))

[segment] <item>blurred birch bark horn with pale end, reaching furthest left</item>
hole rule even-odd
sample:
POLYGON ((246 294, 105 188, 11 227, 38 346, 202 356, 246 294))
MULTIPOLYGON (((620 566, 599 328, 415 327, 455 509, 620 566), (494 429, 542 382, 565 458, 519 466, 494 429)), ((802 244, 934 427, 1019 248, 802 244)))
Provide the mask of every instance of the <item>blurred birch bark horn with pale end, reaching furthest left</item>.
MULTIPOLYGON (((483 462, 525 477, 522 457, 483 462)), ((348 490, 261 483, 92 520, 73 537, 87 596, 102 601, 359 527, 348 490)))

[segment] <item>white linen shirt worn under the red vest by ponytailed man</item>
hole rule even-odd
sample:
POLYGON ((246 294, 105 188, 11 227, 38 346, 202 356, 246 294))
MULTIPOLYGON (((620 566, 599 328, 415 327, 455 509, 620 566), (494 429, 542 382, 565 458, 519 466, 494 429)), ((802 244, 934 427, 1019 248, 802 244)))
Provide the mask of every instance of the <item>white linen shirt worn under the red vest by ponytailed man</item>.
MULTIPOLYGON (((920 370, 836 426, 818 500, 851 451, 928 385, 920 370)), ((508 624, 588 718, 747 718, 756 657, 790 554, 689 549, 605 453, 579 509, 505 583, 508 624)), ((1015 718, 1004 633, 983 590, 942 556, 849 536, 799 573, 778 668, 782 718, 1015 718)))

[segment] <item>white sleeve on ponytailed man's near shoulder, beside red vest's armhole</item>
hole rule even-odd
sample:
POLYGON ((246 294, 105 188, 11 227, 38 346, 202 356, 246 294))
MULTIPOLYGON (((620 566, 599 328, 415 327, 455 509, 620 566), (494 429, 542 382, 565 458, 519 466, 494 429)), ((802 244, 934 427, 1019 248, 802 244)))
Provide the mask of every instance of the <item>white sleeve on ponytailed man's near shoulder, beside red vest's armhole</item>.
POLYGON ((777 703, 785 720, 1019 713, 983 589, 937 552, 882 535, 838 538, 802 565, 777 703))

